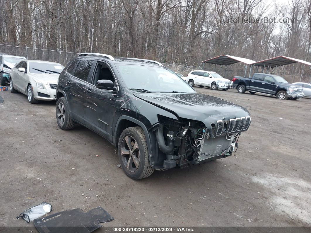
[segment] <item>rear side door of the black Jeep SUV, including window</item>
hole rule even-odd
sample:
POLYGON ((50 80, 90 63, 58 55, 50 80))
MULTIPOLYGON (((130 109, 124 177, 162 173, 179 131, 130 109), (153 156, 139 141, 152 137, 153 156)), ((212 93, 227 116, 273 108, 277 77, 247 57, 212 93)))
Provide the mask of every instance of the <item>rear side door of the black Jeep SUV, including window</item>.
POLYGON ((87 98, 85 88, 90 76, 94 60, 75 60, 67 68, 65 91, 69 102, 72 118, 79 123, 84 122, 84 99, 87 98))

